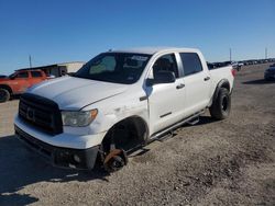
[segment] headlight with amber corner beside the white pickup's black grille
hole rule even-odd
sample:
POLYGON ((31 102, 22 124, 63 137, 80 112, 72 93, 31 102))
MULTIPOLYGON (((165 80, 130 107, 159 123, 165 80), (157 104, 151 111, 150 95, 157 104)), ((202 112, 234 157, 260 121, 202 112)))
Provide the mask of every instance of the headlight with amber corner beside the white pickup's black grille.
POLYGON ((63 111, 62 121, 64 126, 85 127, 88 126, 97 116, 98 110, 91 111, 63 111))

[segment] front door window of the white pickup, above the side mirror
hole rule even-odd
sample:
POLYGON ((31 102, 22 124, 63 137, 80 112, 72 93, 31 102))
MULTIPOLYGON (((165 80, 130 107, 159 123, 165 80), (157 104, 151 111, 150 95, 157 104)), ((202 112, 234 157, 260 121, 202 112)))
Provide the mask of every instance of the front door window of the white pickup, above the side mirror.
POLYGON ((158 71, 173 71, 178 78, 178 68, 174 54, 164 55, 160 57, 153 65, 153 76, 158 71))

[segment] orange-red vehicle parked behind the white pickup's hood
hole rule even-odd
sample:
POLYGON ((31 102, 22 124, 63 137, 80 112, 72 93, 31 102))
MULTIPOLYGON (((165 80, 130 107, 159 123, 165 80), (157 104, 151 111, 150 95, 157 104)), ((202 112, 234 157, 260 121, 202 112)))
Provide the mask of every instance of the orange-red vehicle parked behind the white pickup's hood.
POLYGON ((35 83, 48 79, 42 70, 18 70, 9 77, 0 77, 0 103, 10 100, 13 94, 21 94, 35 83))

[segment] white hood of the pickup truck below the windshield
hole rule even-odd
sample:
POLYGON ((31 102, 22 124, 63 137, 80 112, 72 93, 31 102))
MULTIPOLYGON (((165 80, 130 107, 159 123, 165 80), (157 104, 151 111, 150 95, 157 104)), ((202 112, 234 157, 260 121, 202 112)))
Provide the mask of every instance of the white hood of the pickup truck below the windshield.
POLYGON ((38 83, 26 92, 55 101, 61 110, 80 110, 111 96, 123 93, 127 85, 63 77, 38 83))

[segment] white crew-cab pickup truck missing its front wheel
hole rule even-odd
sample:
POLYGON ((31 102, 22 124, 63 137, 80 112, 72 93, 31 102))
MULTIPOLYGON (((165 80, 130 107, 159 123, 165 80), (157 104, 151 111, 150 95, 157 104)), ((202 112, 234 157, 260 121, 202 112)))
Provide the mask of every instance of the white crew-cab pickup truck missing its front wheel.
POLYGON ((231 107, 234 70, 209 70, 191 48, 110 50, 73 77, 36 84, 20 99, 15 134, 54 165, 112 172, 135 148, 162 138, 209 108, 231 107), (101 164, 101 165, 102 165, 101 164))

